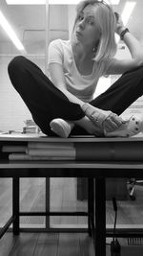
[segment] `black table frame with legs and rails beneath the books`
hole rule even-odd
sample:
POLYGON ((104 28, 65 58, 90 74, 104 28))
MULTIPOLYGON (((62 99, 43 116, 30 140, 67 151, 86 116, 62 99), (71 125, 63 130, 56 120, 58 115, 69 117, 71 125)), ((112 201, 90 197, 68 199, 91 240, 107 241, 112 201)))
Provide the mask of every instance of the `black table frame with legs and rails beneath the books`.
MULTIPOLYGON (((24 139, 23 139, 24 140, 24 139)), ((27 141, 30 139, 27 138, 27 141)), ((33 139, 35 140, 35 139, 33 139)), ((50 141, 49 139, 46 139, 50 141)), ((57 141, 57 138, 51 141, 57 141)), ((72 141, 86 141, 89 139, 68 139, 72 141)), ((91 139, 91 142, 113 142, 112 139, 91 139)), ((0 138, 0 143, 6 142, 7 139, 0 138)), ((10 141, 10 139, 9 139, 10 141)), ((64 139, 59 139, 64 141, 64 139)), ((118 140, 117 140, 118 141, 118 140)), ((137 139, 120 139, 120 142, 130 143, 138 141, 137 139)), ((143 139, 139 138, 143 146, 143 139)), ((12 216, 10 220, 1 230, 1 236, 9 228, 10 223, 13 223, 13 234, 18 235, 21 229, 19 228, 19 217, 25 215, 81 215, 88 216, 88 232, 93 238, 95 245, 95 255, 106 255, 106 237, 112 236, 112 230, 106 229, 106 178, 107 177, 141 177, 143 169, 143 161, 1 161, 0 162, 0 177, 12 177, 12 216), (19 212, 19 178, 20 177, 87 177, 89 180, 89 198, 88 213, 20 213, 19 212), (93 189, 95 182, 95 190, 93 189), (94 209, 95 199, 95 209, 94 209)), ((52 230, 51 230, 52 231, 52 230)), ((60 230, 59 230, 60 231, 60 230)), ((79 232, 79 230, 76 230, 79 232)), ((86 231, 86 230, 85 230, 86 231)), ((55 232, 55 230, 54 230, 55 232)), ((135 230, 135 234, 143 235, 143 230, 135 230)), ((117 230, 118 236, 133 235, 127 231, 121 232, 117 230)))

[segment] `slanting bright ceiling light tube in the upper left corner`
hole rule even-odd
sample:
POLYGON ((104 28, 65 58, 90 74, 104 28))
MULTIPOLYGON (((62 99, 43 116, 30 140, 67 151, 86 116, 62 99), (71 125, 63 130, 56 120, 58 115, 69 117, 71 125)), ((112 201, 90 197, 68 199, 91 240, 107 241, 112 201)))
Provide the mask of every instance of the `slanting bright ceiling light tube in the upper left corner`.
POLYGON ((7 33, 7 35, 9 35, 11 41, 16 46, 16 48, 19 51, 22 51, 23 53, 26 53, 24 46, 22 45, 22 43, 18 39, 17 35, 12 30, 12 28, 10 27, 9 22, 7 21, 6 17, 4 16, 4 14, 1 11, 0 11, 0 25, 2 26, 4 31, 7 33))

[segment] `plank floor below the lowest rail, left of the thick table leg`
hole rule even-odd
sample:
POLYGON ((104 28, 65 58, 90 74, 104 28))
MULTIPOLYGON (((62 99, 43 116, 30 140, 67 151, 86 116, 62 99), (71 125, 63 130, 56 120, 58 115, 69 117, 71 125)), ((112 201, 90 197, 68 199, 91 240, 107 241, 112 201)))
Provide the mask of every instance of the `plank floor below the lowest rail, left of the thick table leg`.
POLYGON ((8 233, 0 241, 0 256, 93 256, 87 234, 8 233))

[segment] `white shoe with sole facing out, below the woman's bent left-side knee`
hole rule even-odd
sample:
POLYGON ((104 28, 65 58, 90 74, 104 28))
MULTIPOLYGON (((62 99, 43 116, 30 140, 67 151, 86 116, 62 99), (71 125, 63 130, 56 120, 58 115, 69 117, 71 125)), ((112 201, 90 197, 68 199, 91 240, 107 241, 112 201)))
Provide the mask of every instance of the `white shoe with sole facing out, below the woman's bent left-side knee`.
POLYGON ((51 130, 61 138, 68 138, 74 124, 61 118, 55 118, 50 123, 51 130))

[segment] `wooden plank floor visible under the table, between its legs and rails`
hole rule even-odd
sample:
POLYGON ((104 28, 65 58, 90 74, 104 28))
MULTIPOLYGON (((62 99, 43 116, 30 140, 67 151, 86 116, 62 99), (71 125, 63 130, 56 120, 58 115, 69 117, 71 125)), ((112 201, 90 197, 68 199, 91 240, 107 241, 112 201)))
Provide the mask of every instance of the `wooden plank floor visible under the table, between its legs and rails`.
MULTIPOLYGON (((45 210, 45 179, 21 179, 20 205, 22 211, 45 210)), ((118 201, 118 225, 141 225, 143 223, 143 187, 135 188, 136 200, 118 201)), ((51 210, 86 210, 87 202, 76 199, 76 180, 74 178, 51 179, 51 210)), ((112 202, 107 201, 107 224, 113 226, 112 202)), ((0 223, 8 221, 11 214, 11 180, 0 179, 0 223)), ((21 226, 42 226, 43 217, 21 218, 21 226)), ((54 225, 85 225, 86 218, 54 217, 54 225)), ((92 239, 88 234, 48 234, 21 233, 13 237, 11 232, 0 240, 0 256, 93 256, 92 239)), ((107 245, 107 254, 110 246, 107 245)))

